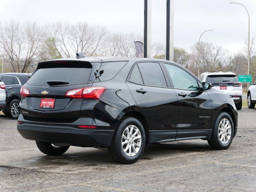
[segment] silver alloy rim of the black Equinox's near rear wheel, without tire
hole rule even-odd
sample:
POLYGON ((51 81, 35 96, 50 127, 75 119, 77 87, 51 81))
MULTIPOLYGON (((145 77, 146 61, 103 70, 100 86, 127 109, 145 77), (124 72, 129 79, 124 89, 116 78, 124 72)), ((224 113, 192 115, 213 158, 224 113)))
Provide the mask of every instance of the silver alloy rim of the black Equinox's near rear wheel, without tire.
POLYGON ((135 156, 139 152, 142 142, 139 128, 135 125, 126 127, 121 142, 124 153, 129 157, 135 156))

